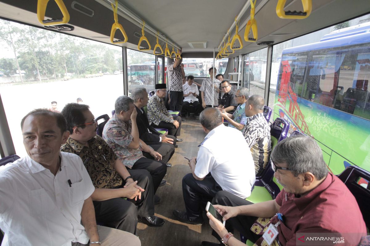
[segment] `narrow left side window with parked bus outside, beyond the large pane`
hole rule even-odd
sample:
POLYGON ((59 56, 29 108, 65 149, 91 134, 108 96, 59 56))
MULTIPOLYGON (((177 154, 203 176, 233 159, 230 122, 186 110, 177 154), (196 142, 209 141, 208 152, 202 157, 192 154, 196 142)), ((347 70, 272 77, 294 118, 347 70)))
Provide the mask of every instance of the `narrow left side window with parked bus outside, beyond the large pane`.
POLYGON ((155 55, 127 49, 128 93, 137 87, 145 87, 147 91, 154 90, 155 55))

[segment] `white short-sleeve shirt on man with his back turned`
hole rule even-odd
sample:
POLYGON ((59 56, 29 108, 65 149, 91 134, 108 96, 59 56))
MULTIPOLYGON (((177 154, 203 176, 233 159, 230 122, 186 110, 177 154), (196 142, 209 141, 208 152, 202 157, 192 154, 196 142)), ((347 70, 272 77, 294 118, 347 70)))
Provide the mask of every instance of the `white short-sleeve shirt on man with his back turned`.
POLYGON ((202 142, 196 158, 195 175, 212 174, 222 190, 241 198, 250 196, 255 183, 255 168, 242 132, 219 125, 202 142))

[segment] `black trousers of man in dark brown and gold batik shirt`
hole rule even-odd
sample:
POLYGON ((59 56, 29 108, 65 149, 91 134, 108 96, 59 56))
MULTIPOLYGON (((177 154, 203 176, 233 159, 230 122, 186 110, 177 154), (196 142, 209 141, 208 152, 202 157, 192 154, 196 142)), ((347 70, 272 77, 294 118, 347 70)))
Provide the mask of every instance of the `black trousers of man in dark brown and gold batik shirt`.
MULTIPOLYGON (((152 177, 147 170, 129 170, 129 174, 145 189, 140 200, 125 200, 122 197, 105 201, 93 201, 95 218, 99 225, 108 226, 136 235, 138 216, 154 215, 154 190, 152 177)), ((123 181, 122 187, 125 181, 123 181)), ((121 188, 121 187, 117 187, 121 188)))

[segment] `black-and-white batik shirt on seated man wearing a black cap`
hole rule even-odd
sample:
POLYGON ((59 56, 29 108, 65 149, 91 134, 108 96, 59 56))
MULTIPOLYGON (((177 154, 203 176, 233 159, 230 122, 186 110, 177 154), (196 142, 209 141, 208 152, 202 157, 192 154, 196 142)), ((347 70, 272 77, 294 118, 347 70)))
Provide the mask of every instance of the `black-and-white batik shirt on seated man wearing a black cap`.
POLYGON ((172 117, 172 115, 166 109, 164 100, 159 98, 157 94, 154 94, 154 96, 149 99, 147 108, 149 125, 152 123, 154 123, 154 125, 159 125, 161 121, 169 123, 174 122, 174 117, 172 117))

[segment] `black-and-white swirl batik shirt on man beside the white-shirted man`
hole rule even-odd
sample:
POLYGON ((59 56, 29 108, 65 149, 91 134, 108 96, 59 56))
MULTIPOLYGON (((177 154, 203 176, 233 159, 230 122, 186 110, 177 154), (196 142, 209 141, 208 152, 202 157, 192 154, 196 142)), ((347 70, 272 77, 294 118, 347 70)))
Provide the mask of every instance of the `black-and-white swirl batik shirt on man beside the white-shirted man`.
POLYGON ((256 174, 260 174, 266 168, 271 153, 270 127, 263 113, 248 117, 243 135, 252 152, 256 174))

